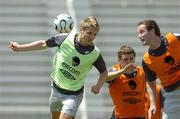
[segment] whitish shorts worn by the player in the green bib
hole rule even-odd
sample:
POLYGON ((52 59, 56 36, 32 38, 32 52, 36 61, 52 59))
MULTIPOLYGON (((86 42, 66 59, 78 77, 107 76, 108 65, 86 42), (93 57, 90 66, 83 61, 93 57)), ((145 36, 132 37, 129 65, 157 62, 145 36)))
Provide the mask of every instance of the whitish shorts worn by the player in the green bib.
POLYGON ((83 99, 83 92, 78 95, 61 94, 52 86, 49 98, 51 112, 64 112, 68 115, 75 116, 83 99))

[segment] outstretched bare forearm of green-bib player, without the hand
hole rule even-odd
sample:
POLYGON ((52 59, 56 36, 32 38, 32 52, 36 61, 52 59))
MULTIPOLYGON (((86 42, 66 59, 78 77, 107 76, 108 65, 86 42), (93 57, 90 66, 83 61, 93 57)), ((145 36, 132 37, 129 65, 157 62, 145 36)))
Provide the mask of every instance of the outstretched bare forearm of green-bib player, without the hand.
POLYGON ((43 50, 46 48, 47 48, 47 45, 46 45, 45 40, 39 40, 39 41, 34 41, 29 44, 19 45, 19 47, 17 48, 17 51, 43 50))

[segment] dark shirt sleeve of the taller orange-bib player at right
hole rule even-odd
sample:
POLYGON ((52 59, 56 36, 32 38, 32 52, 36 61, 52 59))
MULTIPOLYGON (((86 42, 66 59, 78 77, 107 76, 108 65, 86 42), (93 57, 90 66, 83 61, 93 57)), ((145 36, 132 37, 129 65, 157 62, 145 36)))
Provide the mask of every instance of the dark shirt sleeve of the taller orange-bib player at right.
POLYGON ((152 81, 156 80, 156 78, 157 78, 156 73, 149 69, 149 67, 146 65, 144 60, 142 61, 142 67, 144 69, 145 76, 146 76, 146 79, 148 82, 152 82, 152 81))

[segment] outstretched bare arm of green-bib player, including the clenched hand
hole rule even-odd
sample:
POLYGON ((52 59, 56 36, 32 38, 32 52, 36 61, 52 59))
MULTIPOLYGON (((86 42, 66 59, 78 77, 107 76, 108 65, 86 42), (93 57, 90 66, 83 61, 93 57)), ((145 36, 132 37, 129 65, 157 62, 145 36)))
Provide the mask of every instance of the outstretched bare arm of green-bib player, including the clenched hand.
POLYGON ((33 51, 33 50, 43 50, 48 48, 45 40, 38 40, 28 44, 18 44, 17 42, 10 41, 9 48, 13 51, 33 51))

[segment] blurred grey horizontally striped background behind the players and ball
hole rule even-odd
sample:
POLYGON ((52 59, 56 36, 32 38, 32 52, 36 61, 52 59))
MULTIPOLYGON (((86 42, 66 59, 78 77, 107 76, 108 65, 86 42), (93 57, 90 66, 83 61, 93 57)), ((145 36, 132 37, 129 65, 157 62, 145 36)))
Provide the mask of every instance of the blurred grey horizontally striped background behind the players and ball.
MULTIPOLYGON (((141 65, 147 47, 137 38, 142 19, 154 19, 162 34, 180 33, 180 0, 0 0, 0 119, 50 119, 49 76, 54 50, 14 53, 9 41, 29 43, 56 35, 53 20, 60 13, 80 20, 93 15, 101 30, 96 44, 107 68, 117 62, 117 49, 126 44, 136 50, 141 65)), ((85 83, 85 98, 75 119, 109 119, 112 101, 105 84, 93 95, 95 68, 85 83)))

